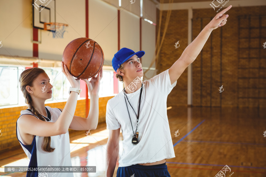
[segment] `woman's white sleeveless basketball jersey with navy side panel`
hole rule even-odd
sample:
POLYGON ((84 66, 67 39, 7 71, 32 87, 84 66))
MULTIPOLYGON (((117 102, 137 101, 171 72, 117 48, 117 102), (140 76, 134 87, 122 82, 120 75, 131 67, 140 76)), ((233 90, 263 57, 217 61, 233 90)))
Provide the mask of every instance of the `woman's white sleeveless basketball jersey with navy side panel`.
MULTIPOLYGON (((58 108, 51 108, 50 106, 45 106, 47 117, 43 116, 46 119, 46 122, 56 122, 58 117, 61 114, 61 110, 58 108)), ((30 109, 22 110, 20 114, 30 114, 34 115, 30 109)), ((21 116, 20 115, 20 116, 21 116)), ((35 116, 35 115, 34 115, 35 116)), ((36 117, 36 116, 35 116, 36 117)), ((38 117, 36 117, 38 118, 38 117)), ((19 119, 19 118, 18 118, 19 119)), ((20 136, 19 128, 17 127, 17 139, 20 142, 23 150, 26 155, 30 159, 29 166, 45 166, 48 165, 53 166, 72 166, 71 158, 70 158, 70 142, 69 142, 69 132, 61 135, 51 136, 51 147, 55 148, 55 150, 51 153, 42 150, 43 138, 41 136, 34 136, 31 145, 25 145, 26 143, 22 140, 20 136)), ((26 166, 26 165, 25 165, 26 166)), ((28 176, 56 176, 56 177, 74 177, 73 173, 45 173, 42 171, 35 171, 35 173, 27 172, 28 176)))

